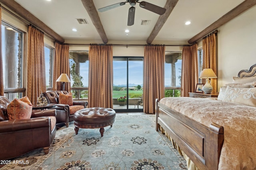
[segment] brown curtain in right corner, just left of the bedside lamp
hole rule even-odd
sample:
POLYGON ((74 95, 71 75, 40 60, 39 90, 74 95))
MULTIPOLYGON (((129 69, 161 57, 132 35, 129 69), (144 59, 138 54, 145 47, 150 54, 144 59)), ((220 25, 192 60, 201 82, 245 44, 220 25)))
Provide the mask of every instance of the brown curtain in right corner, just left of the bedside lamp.
POLYGON ((182 49, 181 96, 188 97, 198 83, 197 44, 184 46, 182 49))

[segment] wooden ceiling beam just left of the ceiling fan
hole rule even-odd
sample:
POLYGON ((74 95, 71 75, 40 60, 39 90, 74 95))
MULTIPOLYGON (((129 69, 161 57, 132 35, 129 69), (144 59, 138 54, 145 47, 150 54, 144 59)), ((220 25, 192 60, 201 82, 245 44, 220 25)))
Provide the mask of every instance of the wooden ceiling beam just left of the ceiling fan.
POLYGON ((103 43, 108 43, 107 35, 102 26, 102 23, 100 21, 100 16, 98 15, 98 11, 96 10, 93 0, 81 0, 81 1, 83 3, 84 8, 86 9, 87 13, 90 16, 93 25, 95 26, 96 30, 98 31, 98 34, 100 35, 103 43))

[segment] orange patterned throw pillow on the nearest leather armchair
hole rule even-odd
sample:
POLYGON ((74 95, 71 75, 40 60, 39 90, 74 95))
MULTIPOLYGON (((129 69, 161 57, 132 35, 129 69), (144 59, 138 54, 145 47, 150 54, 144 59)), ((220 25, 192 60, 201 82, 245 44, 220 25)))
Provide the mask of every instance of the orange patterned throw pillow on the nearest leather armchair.
POLYGON ((32 104, 27 96, 14 99, 7 105, 9 120, 30 119, 32 114, 32 104))

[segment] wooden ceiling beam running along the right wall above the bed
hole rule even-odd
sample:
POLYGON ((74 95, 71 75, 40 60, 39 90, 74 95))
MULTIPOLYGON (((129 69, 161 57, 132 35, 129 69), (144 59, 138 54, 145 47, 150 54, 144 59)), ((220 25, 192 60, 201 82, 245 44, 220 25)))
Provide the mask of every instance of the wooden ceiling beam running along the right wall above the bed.
POLYGON ((254 5, 256 5, 256 0, 245 0, 244 2, 242 2, 241 4, 236 6, 236 8, 232 9, 230 12, 228 12, 227 14, 222 16, 220 19, 218 19, 217 21, 212 23, 206 29, 204 29, 203 31, 201 31, 200 33, 198 33, 197 35, 192 37, 190 40, 188 40, 188 43, 192 44, 192 43, 200 40, 202 37, 206 36, 208 33, 214 31, 221 25, 227 23, 228 21, 232 20, 236 16, 242 14, 244 11, 248 10, 249 8, 251 8, 254 5))

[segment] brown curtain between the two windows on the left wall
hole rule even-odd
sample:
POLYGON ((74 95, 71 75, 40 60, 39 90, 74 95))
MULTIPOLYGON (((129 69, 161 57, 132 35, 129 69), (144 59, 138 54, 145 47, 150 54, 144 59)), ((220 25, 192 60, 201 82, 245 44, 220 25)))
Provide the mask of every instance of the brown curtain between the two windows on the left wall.
POLYGON ((32 104, 46 91, 44 59, 44 33, 35 27, 28 27, 27 96, 32 104))

